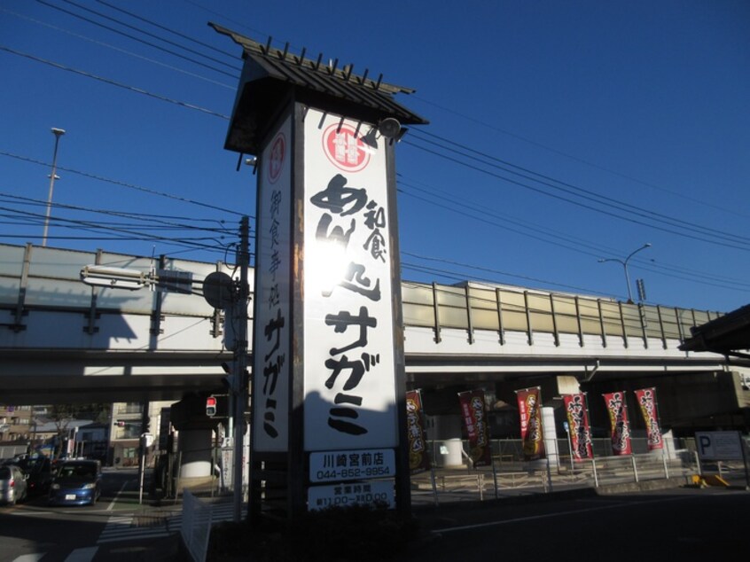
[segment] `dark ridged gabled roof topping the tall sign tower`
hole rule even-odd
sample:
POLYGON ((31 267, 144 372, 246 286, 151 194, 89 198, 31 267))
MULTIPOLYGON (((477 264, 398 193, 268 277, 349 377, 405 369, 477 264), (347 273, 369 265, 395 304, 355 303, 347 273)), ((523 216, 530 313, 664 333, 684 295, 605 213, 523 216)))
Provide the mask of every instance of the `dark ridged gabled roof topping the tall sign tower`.
POLYGON ((373 124, 387 118, 402 125, 428 122, 394 99, 395 94, 414 90, 383 82, 382 74, 377 79, 369 78, 367 70, 354 74, 353 65, 339 67, 338 59, 324 63, 322 54, 307 59, 304 49, 300 55, 290 53, 289 43, 284 50, 275 49, 270 38, 262 44, 215 23, 208 25, 241 45, 245 59, 225 144, 228 150, 258 153, 263 134, 290 92, 302 103, 373 124))

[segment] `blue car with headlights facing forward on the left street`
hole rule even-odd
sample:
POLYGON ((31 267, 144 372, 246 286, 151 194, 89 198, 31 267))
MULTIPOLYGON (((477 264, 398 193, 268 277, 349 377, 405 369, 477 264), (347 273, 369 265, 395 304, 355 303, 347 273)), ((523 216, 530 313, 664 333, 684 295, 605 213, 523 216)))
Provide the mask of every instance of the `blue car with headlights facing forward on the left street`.
POLYGON ((50 505, 93 505, 101 494, 102 464, 72 460, 59 464, 50 485, 50 505))

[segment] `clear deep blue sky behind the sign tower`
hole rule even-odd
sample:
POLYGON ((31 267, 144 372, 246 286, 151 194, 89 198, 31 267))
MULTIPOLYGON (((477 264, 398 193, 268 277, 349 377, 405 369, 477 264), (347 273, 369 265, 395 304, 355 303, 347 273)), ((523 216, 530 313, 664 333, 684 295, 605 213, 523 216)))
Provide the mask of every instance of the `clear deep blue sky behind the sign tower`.
POLYGON ((746 0, 0 0, 0 243, 41 244, 59 128, 48 246, 228 255, 255 182, 223 149, 240 49, 208 21, 417 90, 405 279, 625 300, 599 260, 650 243, 646 302, 750 302, 746 0))

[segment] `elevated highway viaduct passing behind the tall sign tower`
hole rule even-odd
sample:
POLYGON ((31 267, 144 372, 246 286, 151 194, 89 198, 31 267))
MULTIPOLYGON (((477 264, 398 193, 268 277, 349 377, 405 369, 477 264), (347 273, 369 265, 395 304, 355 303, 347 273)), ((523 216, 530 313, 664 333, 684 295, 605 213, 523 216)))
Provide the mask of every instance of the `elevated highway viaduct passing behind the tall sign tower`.
MULTIPOLYGON (((223 391, 232 352, 202 280, 232 275, 230 265, 32 245, 0 245, 0 264, 2 402, 182 401, 223 391), (90 264, 190 272, 191 292, 92 287, 81 281, 90 264)), ((595 425, 604 425, 600 393, 655 386, 662 424, 676 432, 748 427, 750 362, 679 349, 719 313, 472 282, 402 281, 402 301, 407 386, 421 389, 437 418, 456 418, 456 393, 480 387, 494 431, 512 433, 517 424, 504 428, 503 418, 518 416, 514 390, 541 386, 552 406, 586 391, 595 425)))

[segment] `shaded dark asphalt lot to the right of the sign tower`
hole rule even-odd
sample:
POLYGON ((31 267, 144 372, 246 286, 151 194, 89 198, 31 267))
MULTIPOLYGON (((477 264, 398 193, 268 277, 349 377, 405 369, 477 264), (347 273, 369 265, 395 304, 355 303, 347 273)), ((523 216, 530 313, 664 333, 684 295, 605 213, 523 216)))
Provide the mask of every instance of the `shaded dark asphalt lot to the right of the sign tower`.
POLYGON ((420 509, 420 540, 398 558, 471 560, 716 560, 747 552, 750 492, 672 488, 420 509))

